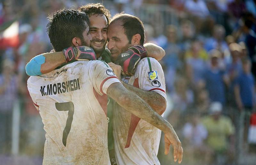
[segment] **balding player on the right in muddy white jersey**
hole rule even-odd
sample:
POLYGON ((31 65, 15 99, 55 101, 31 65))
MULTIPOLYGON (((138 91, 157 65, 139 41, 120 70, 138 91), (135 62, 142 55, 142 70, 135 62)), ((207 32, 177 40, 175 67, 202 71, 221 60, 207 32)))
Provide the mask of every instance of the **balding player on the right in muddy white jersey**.
MULTIPOLYGON (((144 40, 143 23, 138 17, 116 14, 108 26, 108 49, 113 61, 121 64, 122 68, 129 60, 122 52, 127 53, 128 48, 134 45, 143 45, 144 40)), ((120 79, 121 67, 116 64, 109 63, 109 66, 120 79)), ((166 108, 164 72, 156 59, 141 59, 135 74, 122 76, 121 79, 126 89, 136 93, 158 114, 163 115, 166 108)), ((117 164, 160 164, 157 159, 161 137, 159 129, 116 104, 113 132, 117 164)), ((181 149, 178 155, 182 155, 182 152, 181 149)), ((174 157, 174 161, 177 159, 174 157)))

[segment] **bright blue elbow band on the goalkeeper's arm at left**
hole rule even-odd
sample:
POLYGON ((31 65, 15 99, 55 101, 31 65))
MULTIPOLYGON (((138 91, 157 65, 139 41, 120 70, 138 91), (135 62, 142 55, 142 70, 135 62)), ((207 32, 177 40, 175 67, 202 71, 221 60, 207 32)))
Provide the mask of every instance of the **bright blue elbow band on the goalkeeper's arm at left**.
POLYGON ((40 54, 33 59, 31 59, 26 65, 26 73, 29 76, 37 76, 42 75, 41 73, 41 65, 45 63, 45 57, 43 54, 40 54))

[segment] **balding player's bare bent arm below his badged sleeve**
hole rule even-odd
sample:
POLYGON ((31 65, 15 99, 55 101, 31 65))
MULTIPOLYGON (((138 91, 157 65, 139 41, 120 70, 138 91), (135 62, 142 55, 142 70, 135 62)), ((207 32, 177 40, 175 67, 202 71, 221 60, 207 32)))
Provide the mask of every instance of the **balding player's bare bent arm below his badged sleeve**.
POLYGON ((166 109, 166 100, 163 96, 156 92, 141 90, 124 82, 122 83, 126 89, 136 93, 140 98, 148 103, 148 105, 151 106, 156 113, 160 115, 164 113, 166 109))

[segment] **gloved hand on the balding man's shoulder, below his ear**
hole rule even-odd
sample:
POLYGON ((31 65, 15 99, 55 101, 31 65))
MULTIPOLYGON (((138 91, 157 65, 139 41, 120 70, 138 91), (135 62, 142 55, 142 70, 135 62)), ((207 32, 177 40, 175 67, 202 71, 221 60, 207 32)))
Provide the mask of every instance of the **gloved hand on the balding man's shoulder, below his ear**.
POLYGON ((122 67, 121 73, 123 75, 134 75, 134 70, 138 62, 145 57, 147 57, 145 48, 141 45, 134 45, 124 53, 121 53, 117 57, 115 64, 122 67))

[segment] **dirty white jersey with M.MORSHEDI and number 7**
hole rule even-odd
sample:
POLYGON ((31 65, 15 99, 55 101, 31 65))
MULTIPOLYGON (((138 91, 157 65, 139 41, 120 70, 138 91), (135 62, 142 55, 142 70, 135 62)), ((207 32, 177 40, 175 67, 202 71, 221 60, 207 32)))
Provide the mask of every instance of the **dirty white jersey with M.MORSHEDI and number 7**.
POLYGON ((110 164, 106 93, 112 83, 120 81, 100 60, 28 79, 46 131, 43 164, 110 164))

